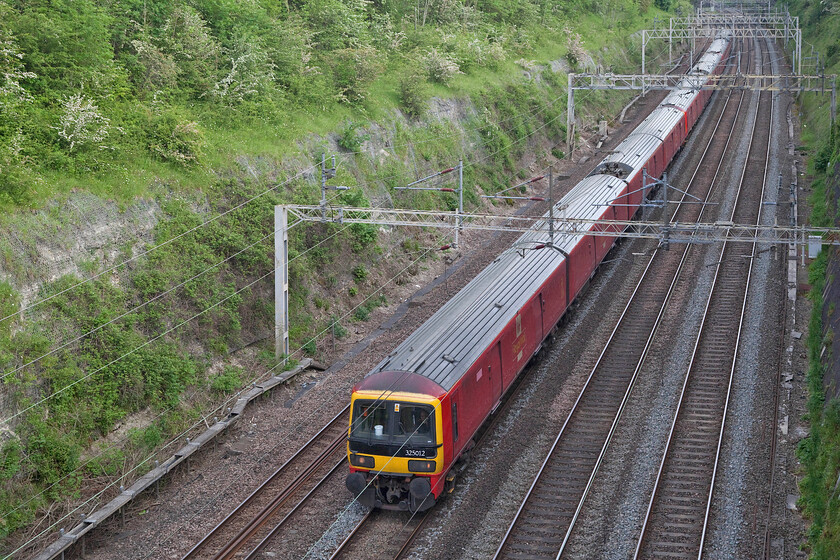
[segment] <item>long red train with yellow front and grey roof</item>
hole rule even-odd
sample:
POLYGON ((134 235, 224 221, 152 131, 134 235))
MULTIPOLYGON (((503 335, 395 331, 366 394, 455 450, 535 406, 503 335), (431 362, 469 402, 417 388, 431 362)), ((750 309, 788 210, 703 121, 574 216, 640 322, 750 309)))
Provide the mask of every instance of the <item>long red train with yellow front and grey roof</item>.
MULTIPOLYGON (((716 39, 682 82, 560 200, 564 217, 628 220, 642 170, 659 177, 700 117, 730 41, 716 39)), ((555 210, 559 212, 559 210, 555 210)), ((422 511, 454 485, 459 459, 568 309, 614 237, 555 234, 536 224, 354 389, 347 488, 369 507, 422 511)), ((597 226, 595 226, 597 227, 597 226)))

